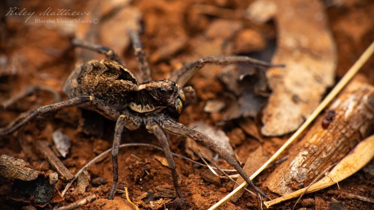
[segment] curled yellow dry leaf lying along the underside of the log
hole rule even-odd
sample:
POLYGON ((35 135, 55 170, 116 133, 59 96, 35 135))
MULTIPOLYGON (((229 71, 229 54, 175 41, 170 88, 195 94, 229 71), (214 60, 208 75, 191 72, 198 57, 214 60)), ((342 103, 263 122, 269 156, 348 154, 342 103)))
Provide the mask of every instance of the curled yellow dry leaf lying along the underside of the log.
POLYGON ((364 167, 374 157, 374 135, 361 141, 355 149, 344 157, 337 165, 321 180, 311 185, 309 188, 303 188, 295 192, 291 192, 282 197, 264 202, 267 208, 281 203, 283 201, 296 198, 306 191, 306 193, 316 192, 327 188, 337 182, 355 174, 364 167))

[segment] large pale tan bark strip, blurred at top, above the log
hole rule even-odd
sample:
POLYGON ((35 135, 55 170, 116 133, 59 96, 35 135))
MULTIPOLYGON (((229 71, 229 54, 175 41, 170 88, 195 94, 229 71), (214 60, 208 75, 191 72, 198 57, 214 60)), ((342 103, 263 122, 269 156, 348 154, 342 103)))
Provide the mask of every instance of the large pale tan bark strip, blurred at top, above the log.
POLYGON ((262 1, 249 7, 249 17, 275 15, 278 46, 272 63, 286 67, 266 72, 273 92, 263 110, 261 133, 280 136, 295 131, 333 85, 337 53, 321 1, 272 0, 270 12, 262 1))

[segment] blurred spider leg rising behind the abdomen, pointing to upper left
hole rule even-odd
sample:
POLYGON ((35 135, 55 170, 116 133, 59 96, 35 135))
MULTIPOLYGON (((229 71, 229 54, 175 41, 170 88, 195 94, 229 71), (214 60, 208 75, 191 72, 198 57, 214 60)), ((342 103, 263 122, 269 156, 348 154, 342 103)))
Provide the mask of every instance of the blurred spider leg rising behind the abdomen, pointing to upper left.
POLYGON ((89 41, 80 40, 77 38, 74 38, 72 40, 72 44, 76 47, 85 48, 100 54, 104 54, 109 60, 117 61, 122 66, 125 65, 125 63, 122 61, 122 59, 109 47, 95 44, 89 41))

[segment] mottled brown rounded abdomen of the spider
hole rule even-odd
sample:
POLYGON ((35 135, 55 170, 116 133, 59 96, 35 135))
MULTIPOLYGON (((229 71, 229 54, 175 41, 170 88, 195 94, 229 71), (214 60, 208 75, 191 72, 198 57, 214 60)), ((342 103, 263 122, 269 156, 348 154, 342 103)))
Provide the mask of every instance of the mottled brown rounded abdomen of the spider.
POLYGON ((63 91, 70 98, 93 96, 120 110, 133 100, 138 87, 135 75, 109 60, 92 60, 79 65, 69 75, 63 91))

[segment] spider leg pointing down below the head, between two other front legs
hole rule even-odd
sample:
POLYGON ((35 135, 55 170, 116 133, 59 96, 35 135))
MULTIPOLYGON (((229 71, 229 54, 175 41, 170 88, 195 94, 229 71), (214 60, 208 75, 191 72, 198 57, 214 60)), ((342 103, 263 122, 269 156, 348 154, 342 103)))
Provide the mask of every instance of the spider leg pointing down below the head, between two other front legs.
POLYGON ((157 140, 160 142, 162 148, 164 149, 164 153, 165 153, 166 159, 168 160, 169 168, 171 170, 171 176, 172 176, 172 179, 173 179, 174 189, 177 192, 178 197, 182 198, 183 196, 182 196, 182 193, 179 190, 179 186, 178 186, 177 170, 175 168, 175 162, 174 162, 174 158, 173 158, 173 155, 171 153, 171 150, 170 150, 168 138, 165 136, 163 130, 160 127, 160 125, 154 123, 154 120, 153 120, 152 116, 150 116, 149 119, 147 120, 146 128, 148 129, 148 131, 150 133, 153 133, 156 136, 157 140))

